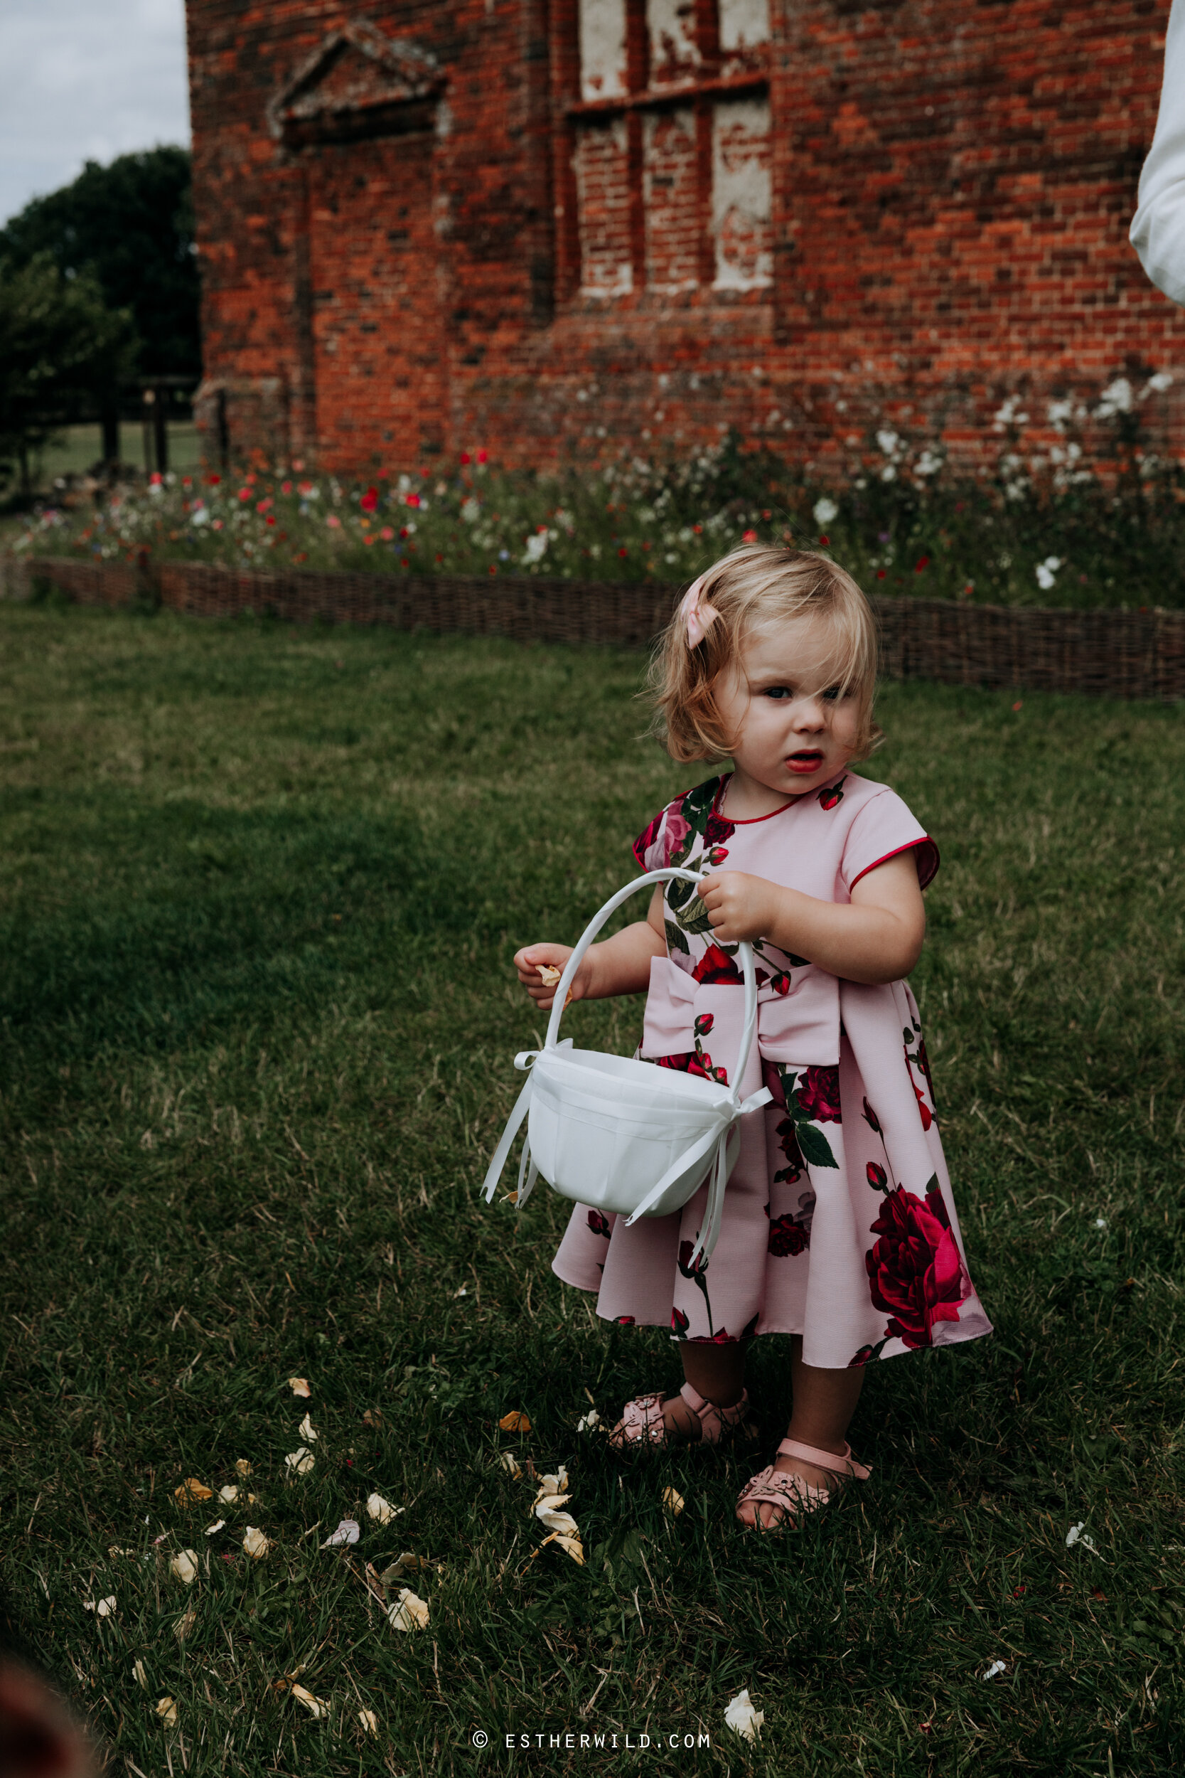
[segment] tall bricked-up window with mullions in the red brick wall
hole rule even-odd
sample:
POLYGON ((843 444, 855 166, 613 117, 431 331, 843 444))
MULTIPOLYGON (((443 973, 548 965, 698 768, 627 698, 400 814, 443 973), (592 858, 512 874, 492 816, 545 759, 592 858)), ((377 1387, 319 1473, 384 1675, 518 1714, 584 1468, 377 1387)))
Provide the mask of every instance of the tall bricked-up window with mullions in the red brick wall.
POLYGON ((769 0, 558 11, 560 295, 769 288, 769 0))

